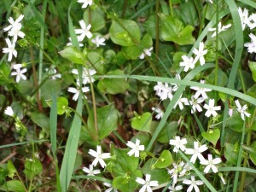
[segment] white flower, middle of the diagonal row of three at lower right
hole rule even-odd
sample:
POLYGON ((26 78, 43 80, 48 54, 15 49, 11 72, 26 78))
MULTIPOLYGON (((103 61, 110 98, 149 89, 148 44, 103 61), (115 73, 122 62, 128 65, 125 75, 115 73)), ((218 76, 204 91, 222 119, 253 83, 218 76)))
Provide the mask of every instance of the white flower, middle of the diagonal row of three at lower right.
POLYGON ((192 154, 190 161, 195 163, 195 160, 198 158, 199 160, 204 160, 204 157, 201 153, 206 151, 207 145, 204 144, 199 147, 199 142, 194 142, 194 148, 186 148, 185 154, 192 154))

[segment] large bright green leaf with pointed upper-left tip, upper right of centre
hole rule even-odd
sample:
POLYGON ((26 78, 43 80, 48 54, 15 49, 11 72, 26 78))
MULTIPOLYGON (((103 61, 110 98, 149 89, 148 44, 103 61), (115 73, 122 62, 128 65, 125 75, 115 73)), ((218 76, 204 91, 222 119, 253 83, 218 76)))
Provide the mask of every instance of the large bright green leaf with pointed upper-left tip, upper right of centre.
POLYGON ((195 38, 192 36, 193 26, 183 27, 183 23, 171 15, 160 14, 160 20, 161 37, 165 41, 172 41, 179 45, 195 43, 195 38))

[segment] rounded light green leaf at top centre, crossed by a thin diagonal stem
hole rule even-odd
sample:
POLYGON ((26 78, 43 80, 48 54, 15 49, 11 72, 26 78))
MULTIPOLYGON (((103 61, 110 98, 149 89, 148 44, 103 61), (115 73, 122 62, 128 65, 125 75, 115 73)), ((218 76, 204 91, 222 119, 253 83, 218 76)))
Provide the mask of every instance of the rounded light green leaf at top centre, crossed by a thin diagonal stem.
POLYGON ((113 43, 121 46, 139 44, 141 40, 140 28, 134 20, 112 20, 109 34, 113 43))

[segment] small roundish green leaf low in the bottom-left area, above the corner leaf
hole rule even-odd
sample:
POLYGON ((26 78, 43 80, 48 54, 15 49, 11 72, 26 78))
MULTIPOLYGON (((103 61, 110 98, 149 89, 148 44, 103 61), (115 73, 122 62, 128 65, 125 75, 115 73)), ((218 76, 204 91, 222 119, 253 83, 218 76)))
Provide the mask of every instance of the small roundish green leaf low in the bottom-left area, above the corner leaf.
POLYGON ((26 160, 24 173, 29 180, 33 179, 33 177, 40 174, 42 171, 43 166, 38 159, 26 160))

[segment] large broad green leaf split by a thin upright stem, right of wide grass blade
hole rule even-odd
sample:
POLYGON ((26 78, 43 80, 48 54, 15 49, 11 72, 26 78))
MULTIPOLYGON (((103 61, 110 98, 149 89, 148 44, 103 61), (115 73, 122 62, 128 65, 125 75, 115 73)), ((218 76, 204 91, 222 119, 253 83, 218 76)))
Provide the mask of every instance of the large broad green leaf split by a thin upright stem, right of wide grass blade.
MULTIPOLYGON (((107 137, 113 130, 117 129, 118 113, 113 104, 104 106, 102 108, 97 108, 96 113, 98 137, 99 139, 103 139, 107 137)), ((92 132, 95 131, 93 115, 93 111, 90 111, 87 122, 87 125, 92 132)))

